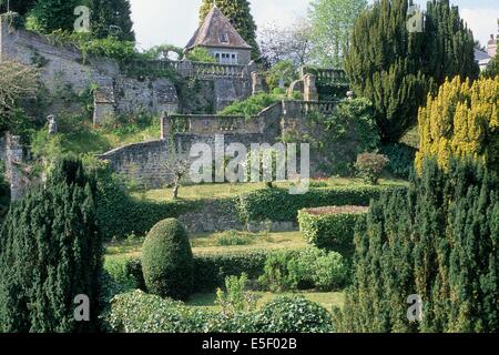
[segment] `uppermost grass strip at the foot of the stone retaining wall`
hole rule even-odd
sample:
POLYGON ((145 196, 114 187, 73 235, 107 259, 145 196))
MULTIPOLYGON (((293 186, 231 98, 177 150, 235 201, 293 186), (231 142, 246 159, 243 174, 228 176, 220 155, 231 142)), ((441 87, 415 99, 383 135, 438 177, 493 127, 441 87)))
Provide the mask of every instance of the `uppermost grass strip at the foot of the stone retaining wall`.
MULTIPOLYGON (((404 180, 381 179, 380 185, 406 185, 404 180)), ((288 183, 275 184, 279 187, 287 187, 288 183)), ((334 187, 334 186, 366 186, 360 179, 355 178, 330 178, 327 180, 313 181, 312 187, 334 187)), ((233 197, 242 193, 265 189, 264 183, 218 183, 218 184, 198 184, 182 186, 179 190, 179 197, 183 200, 221 199, 233 197)), ((153 201, 171 201, 171 189, 150 190, 144 193, 135 193, 134 196, 153 201)))

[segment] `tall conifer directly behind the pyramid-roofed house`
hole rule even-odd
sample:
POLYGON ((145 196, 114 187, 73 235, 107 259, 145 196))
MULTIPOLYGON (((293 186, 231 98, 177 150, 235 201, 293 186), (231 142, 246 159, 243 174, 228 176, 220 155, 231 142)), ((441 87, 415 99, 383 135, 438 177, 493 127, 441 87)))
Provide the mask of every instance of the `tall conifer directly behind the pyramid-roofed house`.
MULTIPOLYGON (((200 9, 201 23, 204 21, 214 4, 213 0, 203 0, 200 9)), ((253 19, 247 0, 216 0, 216 6, 222 13, 231 21, 232 26, 253 48, 252 57, 259 57, 259 48, 256 42, 256 23, 253 19)))

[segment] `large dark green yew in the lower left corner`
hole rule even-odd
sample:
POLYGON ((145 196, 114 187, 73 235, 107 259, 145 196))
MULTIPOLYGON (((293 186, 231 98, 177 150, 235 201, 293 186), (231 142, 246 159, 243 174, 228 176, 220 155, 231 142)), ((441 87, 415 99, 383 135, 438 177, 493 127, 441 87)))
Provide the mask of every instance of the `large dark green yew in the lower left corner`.
POLYGON ((11 206, 0 232, 0 325, 6 333, 96 332, 102 239, 94 182, 64 160, 45 189, 11 206), (74 297, 90 301, 90 322, 74 320, 74 297))

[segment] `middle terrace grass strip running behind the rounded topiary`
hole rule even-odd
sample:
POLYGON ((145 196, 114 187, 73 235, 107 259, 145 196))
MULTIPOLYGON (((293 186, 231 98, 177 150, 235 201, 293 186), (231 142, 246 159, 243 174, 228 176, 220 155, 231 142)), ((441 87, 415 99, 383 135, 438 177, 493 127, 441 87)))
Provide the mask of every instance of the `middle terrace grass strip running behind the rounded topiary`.
MULTIPOLYGON (((232 233, 232 232, 231 232, 232 233)), ((220 239, 225 233, 198 234, 191 236, 191 245, 194 254, 226 253, 252 250, 278 250, 278 248, 305 248, 308 244, 301 232, 279 233, 246 233, 238 232, 244 239, 251 241, 246 245, 221 245, 220 239)), ((106 258, 140 257, 142 254, 143 239, 111 242, 106 245, 106 258)))

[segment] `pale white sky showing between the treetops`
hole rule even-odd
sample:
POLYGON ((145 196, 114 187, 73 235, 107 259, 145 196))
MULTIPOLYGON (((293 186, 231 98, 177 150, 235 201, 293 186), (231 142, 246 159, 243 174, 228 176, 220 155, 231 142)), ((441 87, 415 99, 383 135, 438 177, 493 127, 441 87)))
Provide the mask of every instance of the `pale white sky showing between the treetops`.
MULTIPOLYGON (((306 17, 309 0, 251 0, 256 24, 286 26, 306 17)), ((425 8, 426 0, 415 0, 425 8)), ((139 47, 156 44, 184 47, 198 26, 202 0, 131 0, 134 29, 139 47)), ((475 38, 486 44, 497 33, 498 0, 451 0, 459 6, 461 17, 473 31, 475 38)))

